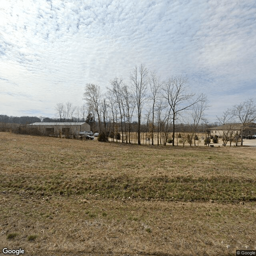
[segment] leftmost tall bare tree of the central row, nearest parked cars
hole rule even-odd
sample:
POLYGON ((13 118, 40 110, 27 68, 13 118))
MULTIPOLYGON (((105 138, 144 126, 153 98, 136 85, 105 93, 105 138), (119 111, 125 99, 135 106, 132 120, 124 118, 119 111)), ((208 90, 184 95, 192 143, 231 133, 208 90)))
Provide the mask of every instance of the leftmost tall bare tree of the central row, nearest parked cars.
POLYGON ((88 105, 88 108, 92 108, 98 115, 99 128, 101 132, 101 120, 100 120, 100 86, 97 84, 86 84, 84 88, 84 100, 88 105))

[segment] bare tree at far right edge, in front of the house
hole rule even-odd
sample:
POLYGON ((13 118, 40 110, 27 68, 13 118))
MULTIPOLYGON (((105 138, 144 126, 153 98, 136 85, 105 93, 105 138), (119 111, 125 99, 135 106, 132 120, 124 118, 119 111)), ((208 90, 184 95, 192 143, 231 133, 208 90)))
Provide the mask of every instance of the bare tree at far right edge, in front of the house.
POLYGON ((240 130, 241 134, 241 146, 243 146, 243 134, 250 123, 256 120, 256 105, 253 99, 248 99, 239 105, 235 105, 232 114, 240 120, 242 127, 240 130))

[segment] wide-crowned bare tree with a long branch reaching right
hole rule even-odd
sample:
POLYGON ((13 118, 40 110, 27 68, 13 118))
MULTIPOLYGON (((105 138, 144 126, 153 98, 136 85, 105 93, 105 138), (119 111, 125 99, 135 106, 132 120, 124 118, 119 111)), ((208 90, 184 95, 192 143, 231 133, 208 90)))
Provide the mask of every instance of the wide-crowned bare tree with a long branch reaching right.
MULTIPOLYGON (((188 88, 188 78, 183 76, 170 77, 164 82, 163 96, 172 110, 172 138, 175 135, 175 120, 178 115, 202 100, 201 95, 192 100, 194 94, 189 93, 188 88)), ((174 139, 172 140, 172 146, 174 146, 174 139)))

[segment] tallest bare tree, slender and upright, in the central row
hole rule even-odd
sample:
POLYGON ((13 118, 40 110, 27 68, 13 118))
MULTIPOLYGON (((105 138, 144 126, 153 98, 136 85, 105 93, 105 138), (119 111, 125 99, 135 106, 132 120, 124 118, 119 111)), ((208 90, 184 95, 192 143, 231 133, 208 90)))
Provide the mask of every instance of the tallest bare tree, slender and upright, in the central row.
POLYGON ((146 100, 146 90, 148 87, 148 70, 143 64, 140 68, 135 66, 130 73, 132 80, 132 91, 136 102, 136 111, 138 115, 138 144, 140 145, 140 122, 142 117, 142 107, 146 100))

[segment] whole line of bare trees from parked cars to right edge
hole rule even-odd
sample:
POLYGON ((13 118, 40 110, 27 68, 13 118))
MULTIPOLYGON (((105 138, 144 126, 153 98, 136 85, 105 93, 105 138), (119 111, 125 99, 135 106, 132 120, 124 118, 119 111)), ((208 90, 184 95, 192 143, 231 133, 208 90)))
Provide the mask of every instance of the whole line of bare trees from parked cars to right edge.
POLYGON ((122 142, 126 143, 130 143, 130 133, 136 132, 141 144, 140 133, 146 132, 152 145, 171 142, 174 146, 173 138, 175 134, 178 138, 181 132, 182 143, 187 141, 192 146, 196 145, 199 132, 206 133, 227 120, 242 123, 240 136, 250 122, 256 120, 255 103, 249 99, 228 110, 225 114, 228 117, 217 116, 218 121, 210 124, 206 119, 207 96, 192 92, 186 77, 170 76, 160 80, 156 71, 149 71, 143 64, 132 69, 129 84, 116 77, 110 80, 104 93, 99 85, 86 84, 84 100, 88 112, 95 117, 94 128, 98 123, 98 130, 107 136, 111 134, 111 138, 120 132, 122 142))

